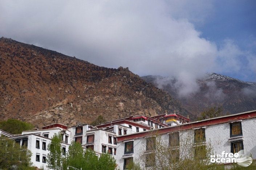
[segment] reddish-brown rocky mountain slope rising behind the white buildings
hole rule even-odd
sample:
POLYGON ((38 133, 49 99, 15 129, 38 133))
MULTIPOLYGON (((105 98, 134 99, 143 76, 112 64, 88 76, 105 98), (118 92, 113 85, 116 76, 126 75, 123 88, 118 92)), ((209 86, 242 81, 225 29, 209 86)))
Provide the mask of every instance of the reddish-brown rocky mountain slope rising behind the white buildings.
POLYGON ((0 120, 19 119, 42 127, 57 120, 68 126, 90 123, 99 115, 110 121, 165 110, 190 114, 168 92, 128 68, 99 67, 4 37, 0 73, 0 120))

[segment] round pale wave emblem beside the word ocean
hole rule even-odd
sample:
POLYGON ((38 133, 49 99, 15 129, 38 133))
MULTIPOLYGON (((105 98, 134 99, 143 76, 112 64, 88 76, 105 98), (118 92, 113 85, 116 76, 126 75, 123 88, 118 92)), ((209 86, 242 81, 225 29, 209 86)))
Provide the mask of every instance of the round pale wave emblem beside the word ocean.
POLYGON ((240 150, 239 157, 236 158, 236 163, 242 167, 247 167, 252 164, 253 156, 249 150, 240 150))

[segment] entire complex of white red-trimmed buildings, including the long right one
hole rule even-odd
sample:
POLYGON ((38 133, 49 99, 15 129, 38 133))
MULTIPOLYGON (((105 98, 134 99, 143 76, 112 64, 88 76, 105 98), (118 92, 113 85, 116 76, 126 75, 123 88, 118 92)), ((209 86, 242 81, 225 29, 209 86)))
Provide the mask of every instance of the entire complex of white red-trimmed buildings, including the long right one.
MULTIPOLYGON (((28 146, 32 152, 34 166, 46 167, 47 146, 55 133, 62 134, 63 155, 68 152, 71 141, 81 143, 84 149, 92 149, 97 155, 109 152, 117 160, 120 169, 126 169, 129 163, 139 162, 141 154, 147 154, 150 137, 160 135, 164 142, 191 137, 191 145, 200 140, 211 143, 214 153, 236 153, 249 150, 256 156, 256 111, 243 112, 197 122, 174 114, 162 114, 153 117, 129 116, 98 126, 78 124, 68 128, 60 123, 44 126, 41 130, 24 131, 21 135, 12 135, 0 130, 20 145, 28 146)), ((178 141, 182 142, 182 141, 178 141)), ((182 148, 179 148, 182 149, 182 148)), ((154 163, 154 162, 151 162, 154 163)), ((140 163, 146 169, 145 162, 140 163)))

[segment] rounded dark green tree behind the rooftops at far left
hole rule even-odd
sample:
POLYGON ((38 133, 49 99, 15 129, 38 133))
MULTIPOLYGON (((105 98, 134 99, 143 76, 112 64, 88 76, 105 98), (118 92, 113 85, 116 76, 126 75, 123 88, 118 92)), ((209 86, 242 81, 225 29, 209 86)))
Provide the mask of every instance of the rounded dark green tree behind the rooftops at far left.
POLYGON ((31 123, 22 122, 20 120, 8 119, 0 122, 0 129, 11 134, 20 134, 34 128, 31 123))

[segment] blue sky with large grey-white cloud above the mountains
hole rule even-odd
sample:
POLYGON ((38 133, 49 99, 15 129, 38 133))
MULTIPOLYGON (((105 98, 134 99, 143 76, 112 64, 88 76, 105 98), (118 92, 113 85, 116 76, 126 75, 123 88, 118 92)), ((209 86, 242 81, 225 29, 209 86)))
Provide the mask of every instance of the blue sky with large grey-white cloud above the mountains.
POLYGON ((255 9, 255 0, 0 0, 0 37, 189 88, 206 72, 256 82, 255 9))

